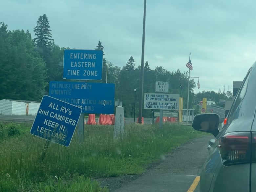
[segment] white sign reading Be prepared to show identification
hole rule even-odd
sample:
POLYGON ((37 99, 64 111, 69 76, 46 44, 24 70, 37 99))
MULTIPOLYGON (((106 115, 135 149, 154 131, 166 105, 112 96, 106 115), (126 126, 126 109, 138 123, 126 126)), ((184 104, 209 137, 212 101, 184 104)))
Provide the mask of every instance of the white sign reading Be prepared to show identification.
POLYGON ((144 109, 178 110, 179 94, 145 93, 144 109))

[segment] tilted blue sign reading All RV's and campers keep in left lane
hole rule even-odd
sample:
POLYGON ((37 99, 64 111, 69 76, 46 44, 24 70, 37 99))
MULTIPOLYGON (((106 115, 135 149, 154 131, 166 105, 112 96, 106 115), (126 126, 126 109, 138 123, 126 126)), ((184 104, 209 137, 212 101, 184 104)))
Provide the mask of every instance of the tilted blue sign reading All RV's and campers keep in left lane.
POLYGON ((68 147, 81 112, 79 107, 44 95, 30 133, 68 147))

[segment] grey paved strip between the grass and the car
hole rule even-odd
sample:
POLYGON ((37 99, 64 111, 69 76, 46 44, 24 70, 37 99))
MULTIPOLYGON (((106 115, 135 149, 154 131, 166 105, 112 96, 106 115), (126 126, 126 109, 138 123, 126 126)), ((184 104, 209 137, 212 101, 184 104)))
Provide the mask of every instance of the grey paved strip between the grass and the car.
POLYGON ((210 139, 214 139, 213 136, 181 145, 137 179, 111 192, 187 192, 200 173, 210 139))

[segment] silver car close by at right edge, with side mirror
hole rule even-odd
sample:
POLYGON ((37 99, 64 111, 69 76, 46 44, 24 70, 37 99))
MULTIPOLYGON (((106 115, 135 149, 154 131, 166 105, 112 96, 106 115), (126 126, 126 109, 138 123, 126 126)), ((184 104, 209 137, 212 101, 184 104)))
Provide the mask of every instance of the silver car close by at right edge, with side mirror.
POLYGON ((195 130, 212 133, 200 192, 256 191, 256 62, 249 69, 219 131, 219 115, 196 115, 195 130))

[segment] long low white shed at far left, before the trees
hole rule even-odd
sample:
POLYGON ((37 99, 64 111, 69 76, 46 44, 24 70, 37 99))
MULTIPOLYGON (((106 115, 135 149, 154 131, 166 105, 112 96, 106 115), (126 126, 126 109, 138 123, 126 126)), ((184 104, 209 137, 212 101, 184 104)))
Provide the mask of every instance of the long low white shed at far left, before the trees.
POLYGON ((36 115, 40 102, 1 99, 0 115, 36 115))

